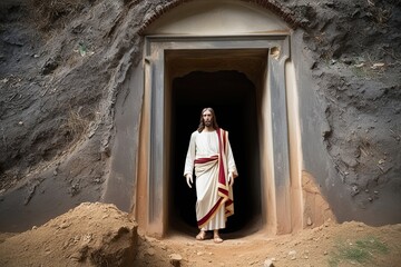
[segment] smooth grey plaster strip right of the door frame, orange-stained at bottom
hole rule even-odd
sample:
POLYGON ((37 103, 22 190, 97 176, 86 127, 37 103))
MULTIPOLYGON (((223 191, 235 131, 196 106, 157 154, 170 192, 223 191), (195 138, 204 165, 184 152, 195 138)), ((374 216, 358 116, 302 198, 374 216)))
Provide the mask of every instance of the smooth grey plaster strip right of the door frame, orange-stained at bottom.
MULTIPOLYGON (((299 96, 299 119, 300 119, 300 146, 302 150, 302 166, 303 184, 312 182, 321 198, 320 202, 325 202, 327 209, 335 209, 335 207, 350 206, 351 202, 343 198, 343 189, 331 159, 327 155, 323 142, 323 132, 327 130, 329 123, 324 118, 324 101, 320 99, 317 90, 312 79, 311 68, 313 66, 312 56, 304 47, 302 40, 303 32, 301 30, 294 31, 292 34, 292 56, 295 69, 295 80, 297 85, 299 96), (323 197, 324 196, 324 197, 323 197), (330 202, 330 207, 327 205, 330 202)), ((307 187, 303 187, 303 197, 307 195, 307 187)), ((303 202, 303 226, 306 226, 307 217, 311 217, 312 224, 324 222, 325 219, 332 218, 341 220, 344 218, 341 210, 335 209, 335 218, 331 211, 326 214, 319 212, 319 205, 316 207, 305 207, 312 205, 311 201, 304 199, 303 202), (305 214, 305 210, 315 210, 316 212, 305 214), (325 217, 325 218, 323 218, 325 217)))

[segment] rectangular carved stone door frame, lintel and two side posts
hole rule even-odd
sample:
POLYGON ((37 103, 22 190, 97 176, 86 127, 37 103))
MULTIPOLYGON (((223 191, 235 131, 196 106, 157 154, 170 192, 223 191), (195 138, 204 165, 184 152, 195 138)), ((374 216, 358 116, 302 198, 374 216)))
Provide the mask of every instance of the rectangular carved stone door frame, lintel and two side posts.
POLYGON ((260 123, 262 219, 267 230, 291 231, 291 177, 286 107, 285 62, 290 59, 290 34, 170 37, 148 36, 144 55, 144 101, 140 127, 138 180, 147 199, 137 211, 149 235, 163 236, 167 227, 168 116, 165 52, 188 49, 266 49, 266 76, 263 86, 260 123))

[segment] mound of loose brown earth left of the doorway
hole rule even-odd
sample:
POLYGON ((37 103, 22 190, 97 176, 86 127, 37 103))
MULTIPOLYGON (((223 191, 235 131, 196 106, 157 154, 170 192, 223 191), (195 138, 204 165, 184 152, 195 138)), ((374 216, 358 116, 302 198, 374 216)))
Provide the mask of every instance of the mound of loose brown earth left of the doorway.
POLYGON ((137 225, 114 205, 84 202, 0 244, 1 266, 133 266, 137 225))

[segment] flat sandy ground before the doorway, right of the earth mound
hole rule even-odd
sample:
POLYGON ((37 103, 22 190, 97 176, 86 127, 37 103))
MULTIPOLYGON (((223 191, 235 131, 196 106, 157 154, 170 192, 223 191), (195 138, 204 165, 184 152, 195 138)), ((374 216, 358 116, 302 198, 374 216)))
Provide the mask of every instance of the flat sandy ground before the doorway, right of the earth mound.
POLYGON ((268 263, 288 267, 400 266, 400 237, 401 225, 375 228, 346 222, 325 224, 286 236, 256 234, 218 245, 213 240, 196 241, 187 236, 162 241, 146 238, 136 260, 138 266, 168 266, 158 255, 174 257, 173 254, 178 254, 183 258, 182 266, 199 267, 272 266, 268 263))

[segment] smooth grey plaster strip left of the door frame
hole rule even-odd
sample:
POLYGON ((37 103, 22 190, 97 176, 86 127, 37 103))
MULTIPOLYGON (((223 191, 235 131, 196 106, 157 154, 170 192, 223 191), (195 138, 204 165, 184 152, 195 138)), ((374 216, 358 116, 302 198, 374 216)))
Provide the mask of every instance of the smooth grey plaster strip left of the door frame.
POLYGON ((135 66, 121 86, 115 108, 115 141, 110 174, 102 200, 130 211, 136 205, 138 184, 139 131, 144 98, 144 68, 135 66))

